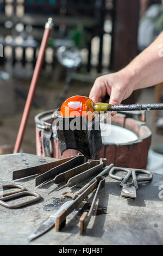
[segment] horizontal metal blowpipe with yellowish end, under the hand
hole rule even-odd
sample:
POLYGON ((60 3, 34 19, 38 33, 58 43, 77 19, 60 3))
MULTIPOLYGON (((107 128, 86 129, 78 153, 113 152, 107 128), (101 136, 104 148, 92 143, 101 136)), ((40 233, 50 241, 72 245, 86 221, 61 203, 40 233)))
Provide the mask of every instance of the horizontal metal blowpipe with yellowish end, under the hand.
POLYGON ((95 103, 93 110, 97 112, 107 111, 134 111, 134 110, 156 110, 163 109, 163 103, 147 103, 147 104, 132 104, 132 105, 111 105, 109 103, 95 103))

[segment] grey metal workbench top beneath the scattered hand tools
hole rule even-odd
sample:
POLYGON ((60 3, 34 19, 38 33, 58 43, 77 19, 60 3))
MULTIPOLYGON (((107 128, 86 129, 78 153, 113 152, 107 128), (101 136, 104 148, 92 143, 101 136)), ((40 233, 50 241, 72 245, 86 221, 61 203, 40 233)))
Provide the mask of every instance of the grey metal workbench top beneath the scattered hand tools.
MULTIPOLYGON (((59 209, 59 205, 51 208, 51 203, 55 198, 63 198, 64 192, 71 192, 71 188, 53 192, 48 196, 48 192, 57 185, 49 184, 37 188, 35 176, 13 181, 12 171, 26 166, 22 158, 26 158, 30 166, 41 164, 42 158, 47 162, 54 160, 22 153, 0 156, 0 184, 22 184, 29 191, 39 192, 42 196, 39 202, 20 209, 0 206, 1 245, 163 245, 163 175, 156 173, 152 182, 139 185, 135 200, 121 198, 118 182, 106 177, 98 203, 106 206, 107 214, 93 216, 84 236, 79 236, 80 216, 78 211, 73 211, 60 232, 53 228, 29 243, 28 235, 59 209)), ((79 190, 79 186, 76 190, 79 190)))

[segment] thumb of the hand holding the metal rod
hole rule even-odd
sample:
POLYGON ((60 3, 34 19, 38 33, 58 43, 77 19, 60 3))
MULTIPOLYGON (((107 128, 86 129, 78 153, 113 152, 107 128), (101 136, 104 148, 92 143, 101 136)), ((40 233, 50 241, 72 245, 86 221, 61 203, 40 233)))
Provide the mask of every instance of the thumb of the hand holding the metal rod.
MULTIPOLYGON (((124 90, 121 89, 120 87, 112 87, 109 103, 112 105, 120 104, 125 94, 126 93, 124 92, 124 90)), ((117 113, 116 111, 112 111, 111 115, 115 115, 116 113, 117 113)))

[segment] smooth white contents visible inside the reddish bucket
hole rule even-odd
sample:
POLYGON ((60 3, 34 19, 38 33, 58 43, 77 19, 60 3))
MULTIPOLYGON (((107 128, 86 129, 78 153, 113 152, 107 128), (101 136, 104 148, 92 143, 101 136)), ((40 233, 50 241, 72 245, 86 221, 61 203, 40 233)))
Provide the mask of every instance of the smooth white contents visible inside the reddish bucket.
POLYGON ((138 139, 137 135, 123 127, 100 123, 103 144, 120 144, 134 142, 138 139))

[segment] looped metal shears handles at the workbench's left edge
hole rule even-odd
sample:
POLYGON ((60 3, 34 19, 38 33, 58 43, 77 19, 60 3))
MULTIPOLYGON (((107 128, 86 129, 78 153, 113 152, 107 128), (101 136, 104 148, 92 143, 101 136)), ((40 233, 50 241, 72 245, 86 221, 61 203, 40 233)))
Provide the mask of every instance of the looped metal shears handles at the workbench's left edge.
POLYGON ((27 191, 26 187, 19 185, 19 184, 6 184, 6 185, 1 185, 1 194, 0 194, 0 205, 9 208, 9 209, 15 209, 15 208, 20 208, 24 205, 27 204, 32 204, 36 202, 37 200, 41 199, 41 196, 39 193, 32 192, 32 191, 27 191), (20 190, 17 191, 12 191, 8 193, 3 193, 5 189, 8 188, 19 188, 20 190), (12 198, 17 198, 21 196, 33 196, 33 199, 27 200, 25 202, 22 202, 20 204, 8 204, 5 203, 5 201, 12 199, 12 198))

